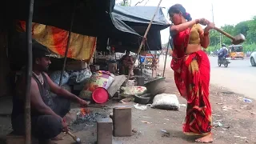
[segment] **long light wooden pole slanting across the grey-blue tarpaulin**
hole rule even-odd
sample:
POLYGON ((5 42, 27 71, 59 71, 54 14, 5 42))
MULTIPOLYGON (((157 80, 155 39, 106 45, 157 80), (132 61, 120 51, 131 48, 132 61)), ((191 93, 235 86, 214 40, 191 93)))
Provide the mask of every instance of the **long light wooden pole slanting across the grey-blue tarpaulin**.
MULTIPOLYGON (((141 50, 142 50, 142 46, 144 45, 144 43, 145 43, 145 41, 146 41, 146 35, 147 35, 147 34, 149 33, 149 31, 150 31, 150 27, 151 27, 151 25, 152 25, 152 22, 154 21, 155 15, 158 13, 158 9, 159 9, 159 7, 160 7, 161 2, 162 2, 162 0, 160 0, 160 2, 158 3, 157 10, 155 10, 155 13, 154 13, 154 15, 153 15, 153 18, 151 19, 149 26, 147 26, 147 29, 146 29, 146 32, 145 32, 145 34, 144 34, 144 36, 143 36, 141 45, 140 45, 139 48, 138 48, 138 52, 137 52, 137 55, 136 55, 136 59, 138 59, 139 53, 140 53, 141 50)), ((135 64, 135 62, 136 62, 136 59, 134 60, 134 64, 135 64)), ((128 74, 128 78, 127 78, 126 84, 127 84, 128 80, 130 79, 130 74, 131 74, 132 70, 134 70, 134 64, 131 66, 131 68, 130 68, 130 70, 129 70, 129 74, 128 74)), ((126 85, 125 85, 125 86, 126 86, 126 85)))

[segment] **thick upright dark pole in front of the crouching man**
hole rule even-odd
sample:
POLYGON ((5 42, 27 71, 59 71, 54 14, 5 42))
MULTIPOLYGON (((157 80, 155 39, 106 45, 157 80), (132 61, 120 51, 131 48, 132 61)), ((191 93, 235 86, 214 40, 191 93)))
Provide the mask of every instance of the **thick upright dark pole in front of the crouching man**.
POLYGON ((25 126, 26 144, 31 143, 31 118, 30 118, 30 84, 32 76, 32 19, 34 13, 34 0, 30 0, 28 18, 26 20, 26 45, 27 45, 27 64, 26 64, 26 101, 25 101, 25 126))

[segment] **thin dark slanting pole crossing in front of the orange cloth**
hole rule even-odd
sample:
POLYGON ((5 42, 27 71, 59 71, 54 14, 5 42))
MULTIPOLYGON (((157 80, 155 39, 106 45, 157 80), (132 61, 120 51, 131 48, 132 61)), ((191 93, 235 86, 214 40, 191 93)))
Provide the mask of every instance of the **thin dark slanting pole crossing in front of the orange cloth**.
POLYGON ((65 57, 64 57, 64 62, 63 62, 63 66, 62 66, 62 73, 61 73, 61 78, 59 79, 59 86, 62 86, 62 77, 66 68, 66 57, 67 57, 67 53, 69 51, 69 47, 70 47, 70 38, 71 38, 71 33, 72 33, 72 28, 73 28, 73 23, 74 23, 74 13, 75 13, 75 6, 76 6, 76 1, 74 1, 74 10, 72 12, 72 17, 71 17, 71 22, 70 22, 70 31, 69 31, 69 35, 67 38, 67 43, 66 43, 66 50, 65 50, 65 57))

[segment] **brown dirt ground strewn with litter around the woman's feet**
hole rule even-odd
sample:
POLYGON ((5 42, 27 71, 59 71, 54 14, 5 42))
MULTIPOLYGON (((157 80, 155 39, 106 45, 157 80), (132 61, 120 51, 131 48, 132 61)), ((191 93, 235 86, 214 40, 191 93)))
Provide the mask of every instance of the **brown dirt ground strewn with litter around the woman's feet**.
MULTIPOLYGON (((184 98, 179 97, 178 90, 174 85, 173 71, 166 70, 166 82, 168 88, 166 93, 177 94, 179 102, 186 104, 184 98)), ((218 86, 210 86, 210 102, 213 109, 213 122, 221 123, 220 126, 214 126, 214 143, 217 144, 256 144, 256 108, 255 102, 243 102, 241 94, 234 94, 230 90, 218 86)), ((132 125, 134 135, 129 138, 114 138, 114 144, 182 144, 194 143, 194 137, 182 134, 182 122, 185 118, 186 107, 182 106, 179 111, 158 110, 150 107, 147 110, 137 110, 134 108, 134 102, 123 104, 121 102, 110 102, 109 106, 132 106, 132 125), (150 122, 144 123, 142 121, 150 122), (162 130, 170 133, 166 137, 162 135, 162 130)), ((90 109, 95 111, 96 109, 90 109)), ((72 111, 74 112, 74 111, 72 111)), ((110 114, 111 110, 99 110, 99 113, 110 114)), ((0 119, 1 120, 1 119, 0 119)), ((1 126, 10 126, 10 123, 0 123, 1 126)), ((4 128, 6 128, 4 127, 4 128)), ((91 126, 78 126, 81 129, 73 130, 82 143, 96 142, 96 124, 91 126)), ((6 129, 1 129, 1 134, 6 133, 6 129)), ((1 143, 1 142, 0 142, 1 143)), ((64 140, 59 144, 74 143, 70 136, 65 135, 64 140)))

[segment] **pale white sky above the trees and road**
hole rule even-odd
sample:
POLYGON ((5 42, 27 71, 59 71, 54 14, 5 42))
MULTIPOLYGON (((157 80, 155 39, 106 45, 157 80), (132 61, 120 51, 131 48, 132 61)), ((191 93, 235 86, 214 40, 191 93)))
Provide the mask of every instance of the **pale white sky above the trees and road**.
MULTIPOLYGON (((134 6, 137 2, 142 0, 129 0, 131 6, 134 6)), ((160 0, 144 0, 137 6, 158 6, 160 0)), ((166 14, 170 6, 179 3, 186 8, 186 11, 190 13, 193 19, 206 18, 210 22, 213 22, 215 26, 236 25, 238 22, 250 20, 256 15, 256 8, 253 0, 162 0, 160 6, 166 7, 163 9, 163 13, 166 14), (213 9, 212 9, 213 7, 213 9), (213 13, 214 12, 214 13, 213 13)), ((152 15, 153 17, 153 15, 152 15)), ((162 43, 168 42, 169 30, 161 31, 162 43)))

